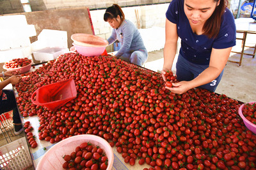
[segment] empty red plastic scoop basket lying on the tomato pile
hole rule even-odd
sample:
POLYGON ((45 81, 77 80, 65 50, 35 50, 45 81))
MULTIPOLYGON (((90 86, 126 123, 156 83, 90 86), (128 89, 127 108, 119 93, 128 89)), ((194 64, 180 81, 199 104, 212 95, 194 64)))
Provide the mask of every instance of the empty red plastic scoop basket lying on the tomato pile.
POLYGON ((31 96, 31 101, 35 105, 44 105, 54 111, 76 98, 76 84, 73 79, 55 82, 36 89, 31 96))

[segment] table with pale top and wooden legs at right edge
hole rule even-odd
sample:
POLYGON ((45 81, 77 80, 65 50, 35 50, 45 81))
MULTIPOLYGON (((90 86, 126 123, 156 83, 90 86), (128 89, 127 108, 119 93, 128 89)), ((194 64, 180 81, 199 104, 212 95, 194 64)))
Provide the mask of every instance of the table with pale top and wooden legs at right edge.
POLYGON ((249 47, 245 45, 247 35, 256 34, 256 22, 252 18, 239 18, 239 19, 235 19, 235 23, 236 23, 236 30, 237 30, 236 32, 243 33, 243 38, 236 38, 236 40, 242 40, 242 50, 241 52, 236 52, 236 51, 231 51, 231 52, 241 54, 241 56, 239 61, 230 61, 230 60, 228 61, 232 63, 238 63, 238 65, 241 66, 243 54, 253 56, 253 58, 255 57, 256 46, 252 47, 254 49, 253 54, 244 53, 244 47, 249 47))

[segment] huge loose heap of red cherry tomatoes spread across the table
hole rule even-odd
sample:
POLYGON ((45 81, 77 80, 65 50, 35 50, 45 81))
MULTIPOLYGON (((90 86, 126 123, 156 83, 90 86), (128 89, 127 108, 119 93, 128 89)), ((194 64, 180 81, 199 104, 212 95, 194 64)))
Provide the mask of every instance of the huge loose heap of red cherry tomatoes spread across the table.
POLYGON ((24 75, 17 104, 22 116, 38 116, 40 140, 99 135, 124 162, 148 169, 255 169, 256 136, 239 117, 241 103, 225 95, 171 93, 160 73, 110 56, 67 53, 24 75), (31 103, 37 88, 67 79, 76 82, 74 100, 56 111, 31 103))

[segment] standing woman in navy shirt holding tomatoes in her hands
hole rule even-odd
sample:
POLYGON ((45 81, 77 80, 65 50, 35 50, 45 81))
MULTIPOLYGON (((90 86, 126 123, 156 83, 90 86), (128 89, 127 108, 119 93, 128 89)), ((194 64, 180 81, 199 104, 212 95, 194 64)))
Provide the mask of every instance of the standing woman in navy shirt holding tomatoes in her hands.
POLYGON ((173 0, 166 12, 166 42, 162 76, 171 71, 177 39, 181 47, 176 65, 179 82, 170 91, 192 88, 215 91, 230 51, 236 45, 236 25, 226 0, 173 0))

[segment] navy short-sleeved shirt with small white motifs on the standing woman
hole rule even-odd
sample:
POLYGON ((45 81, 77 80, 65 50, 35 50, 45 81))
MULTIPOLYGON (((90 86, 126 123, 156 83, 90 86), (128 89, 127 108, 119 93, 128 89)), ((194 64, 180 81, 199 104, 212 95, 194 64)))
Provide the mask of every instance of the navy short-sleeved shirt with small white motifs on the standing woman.
POLYGON ((209 65, 212 48, 226 49, 236 45, 235 20, 228 8, 222 16, 220 33, 211 39, 193 33, 184 13, 184 0, 173 0, 166 12, 166 18, 177 24, 177 33, 181 39, 180 54, 191 63, 209 65))

